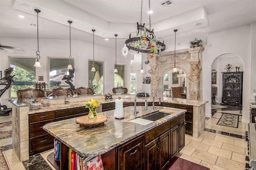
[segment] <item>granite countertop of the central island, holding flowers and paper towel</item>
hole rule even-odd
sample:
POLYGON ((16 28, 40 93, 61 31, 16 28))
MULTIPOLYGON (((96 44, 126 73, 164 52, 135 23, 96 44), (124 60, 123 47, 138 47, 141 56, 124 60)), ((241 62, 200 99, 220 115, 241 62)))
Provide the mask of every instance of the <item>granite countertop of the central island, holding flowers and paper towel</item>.
MULTIPOLYGON (((162 108, 170 109, 157 106, 155 110, 162 108)), ((98 113, 98 115, 108 117, 108 121, 104 125, 92 129, 76 124, 75 120, 77 117, 48 123, 44 125, 43 129, 69 148, 72 148, 80 156, 94 157, 108 152, 186 112, 184 109, 171 108, 176 110, 176 112, 148 125, 140 125, 130 122, 134 119, 134 107, 124 107, 123 109, 124 119, 114 119, 115 110, 98 113)), ((138 106, 137 111, 139 113, 137 113, 137 117, 152 113, 152 109, 152 106, 149 106, 148 110, 144 110, 144 106, 138 106)))

